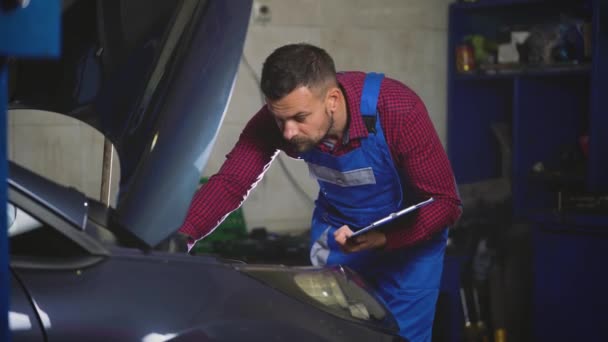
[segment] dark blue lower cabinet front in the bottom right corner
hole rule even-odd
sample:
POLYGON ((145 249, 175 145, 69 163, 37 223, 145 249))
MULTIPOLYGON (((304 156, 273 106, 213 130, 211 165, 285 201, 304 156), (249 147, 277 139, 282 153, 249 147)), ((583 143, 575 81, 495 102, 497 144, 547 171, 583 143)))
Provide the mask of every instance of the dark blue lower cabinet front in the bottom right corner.
POLYGON ((532 340, 606 341, 606 226, 542 222, 533 242, 532 340))

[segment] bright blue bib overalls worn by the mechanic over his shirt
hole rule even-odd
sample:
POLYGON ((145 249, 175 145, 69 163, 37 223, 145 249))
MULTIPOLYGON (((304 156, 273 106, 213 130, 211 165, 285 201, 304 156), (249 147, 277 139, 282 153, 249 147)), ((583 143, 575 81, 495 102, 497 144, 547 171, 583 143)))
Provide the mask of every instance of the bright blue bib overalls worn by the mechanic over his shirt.
POLYGON ((320 188, 310 258, 314 265, 341 264, 357 271, 395 316, 401 336, 430 341, 447 228, 413 248, 350 254, 340 251, 333 235, 344 224, 356 230, 403 208, 401 179, 376 110, 383 78, 376 73, 365 78, 361 114, 375 123, 360 148, 338 157, 318 149, 301 155, 320 188))

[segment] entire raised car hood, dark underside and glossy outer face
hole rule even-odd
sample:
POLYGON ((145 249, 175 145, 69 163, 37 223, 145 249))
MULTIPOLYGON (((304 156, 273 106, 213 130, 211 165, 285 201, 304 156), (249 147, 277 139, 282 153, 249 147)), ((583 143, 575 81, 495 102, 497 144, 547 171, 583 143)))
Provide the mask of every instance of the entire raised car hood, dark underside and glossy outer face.
POLYGON ((230 99, 251 0, 64 1, 62 57, 11 65, 9 108, 113 144, 120 224, 153 246, 186 215, 230 99))

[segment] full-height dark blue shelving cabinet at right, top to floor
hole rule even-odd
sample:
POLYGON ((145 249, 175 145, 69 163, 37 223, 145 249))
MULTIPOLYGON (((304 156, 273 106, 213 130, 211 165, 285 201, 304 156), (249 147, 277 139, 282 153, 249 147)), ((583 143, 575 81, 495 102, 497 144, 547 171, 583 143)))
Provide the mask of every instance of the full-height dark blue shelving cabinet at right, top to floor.
POLYGON ((510 177, 513 221, 538 228, 533 239, 535 340, 597 340, 595 323, 607 318, 606 276, 599 270, 608 261, 608 210, 568 212, 558 201, 564 189, 608 196, 608 1, 454 3, 447 62, 447 149, 457 182, 510 177), (458 71, 458 48, 467 36, 499 40, 504 27, 529 28, 563 18, 590 24, 586 58, 458 71), (495 124, 510 129, 508 175, 495 124))

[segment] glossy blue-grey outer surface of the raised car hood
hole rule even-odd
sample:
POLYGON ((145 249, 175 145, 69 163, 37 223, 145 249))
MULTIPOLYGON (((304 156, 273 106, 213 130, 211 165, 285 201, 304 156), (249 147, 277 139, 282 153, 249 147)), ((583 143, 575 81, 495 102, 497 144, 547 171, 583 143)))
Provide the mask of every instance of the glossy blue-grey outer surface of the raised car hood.
POLYGON ((242 53, 249 18, 249 7, 243 7, 235 11, 239 6, 230 2, 209 2, 205 15, 211 17, 202 18, 193 32, 188 54, 164 101, 161 115, 167 119, 152 138, 158 137, 156 147, 138 166, 126 196, 119 199, 123 224, 150 245, 181 225, 211 153, 242 53))

